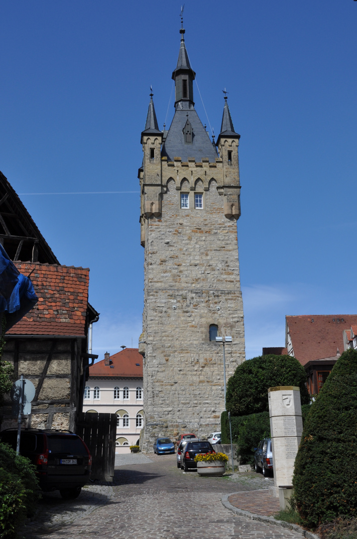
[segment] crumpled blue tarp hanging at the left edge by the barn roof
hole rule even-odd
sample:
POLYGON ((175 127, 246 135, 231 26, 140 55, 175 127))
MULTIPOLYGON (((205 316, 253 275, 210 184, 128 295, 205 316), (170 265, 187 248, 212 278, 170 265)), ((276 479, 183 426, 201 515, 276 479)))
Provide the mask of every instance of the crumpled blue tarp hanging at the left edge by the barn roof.
POLYGON ((6 331, 37 302, 31 280, 18 271, 0 244, 0 314, 6 314, 6 331))

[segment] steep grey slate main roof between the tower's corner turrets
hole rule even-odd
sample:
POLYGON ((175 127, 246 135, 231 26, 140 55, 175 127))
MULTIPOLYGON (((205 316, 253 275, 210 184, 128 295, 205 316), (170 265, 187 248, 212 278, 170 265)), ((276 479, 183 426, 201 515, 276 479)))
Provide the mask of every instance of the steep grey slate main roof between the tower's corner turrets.
POLYGON ((196 161, 202 161, 202 157, 208 157, 213 163, 216 161, 217 151, 212 146, 208 133, 189 101, 177 102, 173 121, 162 146, 161 156, 167 157, 168 161, 174 161, 174 157, 181 157, 182 161, 187 161, 189 157, 195 158, 196 161), (184 140, 183 128, 187 120, 192 126, 191 143, 186 143, 184 140))

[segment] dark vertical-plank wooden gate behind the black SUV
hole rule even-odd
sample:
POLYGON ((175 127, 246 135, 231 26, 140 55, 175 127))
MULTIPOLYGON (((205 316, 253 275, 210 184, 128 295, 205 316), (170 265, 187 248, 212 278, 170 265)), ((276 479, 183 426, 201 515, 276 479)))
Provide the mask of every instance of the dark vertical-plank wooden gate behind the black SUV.
POLYGON ((87 444, 92 455, 91 479, 112 481, 115 465, 117 414, 80 413, 76 434, 87 444))

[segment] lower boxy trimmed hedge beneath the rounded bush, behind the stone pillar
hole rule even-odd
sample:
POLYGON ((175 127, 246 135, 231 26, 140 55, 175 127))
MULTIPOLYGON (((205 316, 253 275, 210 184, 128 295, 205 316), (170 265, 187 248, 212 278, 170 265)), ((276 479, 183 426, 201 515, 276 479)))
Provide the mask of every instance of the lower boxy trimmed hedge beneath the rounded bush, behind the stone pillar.
MULTIPOLYGON (((303 424, 309 413, 311 404, 304 404, 302 408, 303 424)), ((237 457, 239 464, 254 464, 254 451, 263 438, 270 437, 269 412, 253 413, 249 416, 231 416, 232 441, 237 444, 237 457)), ((221 416, 222 443, 230 444, 230 424, 228 412, 221 416)))

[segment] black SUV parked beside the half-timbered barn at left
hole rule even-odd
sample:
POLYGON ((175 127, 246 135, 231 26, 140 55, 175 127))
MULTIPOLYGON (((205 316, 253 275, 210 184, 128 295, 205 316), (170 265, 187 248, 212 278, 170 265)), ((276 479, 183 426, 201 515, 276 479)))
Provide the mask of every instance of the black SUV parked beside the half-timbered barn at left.
MULTIPOLYGON (((16 450, 17 429, 2 431, 0 441, 16 450)), ((59 490, 63 498, 74 499, 90 480, 92 458, 88 447, 77 434, 23 430, 20 454, 37 467, 39 485, 44 492, 59 490)))

